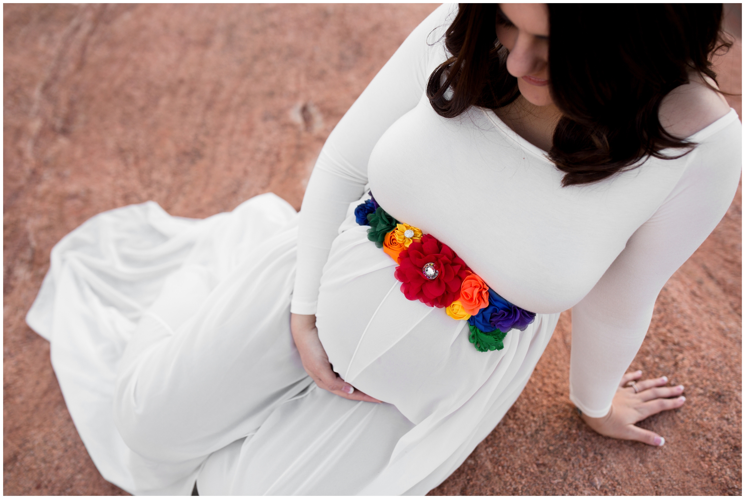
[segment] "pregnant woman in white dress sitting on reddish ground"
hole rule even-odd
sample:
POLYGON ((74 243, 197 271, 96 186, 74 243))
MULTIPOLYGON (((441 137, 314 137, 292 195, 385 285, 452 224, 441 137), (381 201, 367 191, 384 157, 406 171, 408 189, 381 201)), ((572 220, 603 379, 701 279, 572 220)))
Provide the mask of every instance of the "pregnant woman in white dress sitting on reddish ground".
POLYGON ((663 445, 635 423, 683 387, 624 373, 738 185, 721 15, 443 5, 329 136, 300 214, 262 194, 75 229, 28 323, 101 474, 135 494, 425 494, 568 308, 583 419, 663 445))

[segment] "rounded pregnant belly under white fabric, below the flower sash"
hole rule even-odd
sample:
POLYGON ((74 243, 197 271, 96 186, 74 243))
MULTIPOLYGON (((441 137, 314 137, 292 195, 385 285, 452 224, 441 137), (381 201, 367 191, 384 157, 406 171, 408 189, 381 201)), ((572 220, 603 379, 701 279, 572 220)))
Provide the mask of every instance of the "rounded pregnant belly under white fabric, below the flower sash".
POLYGON ((478 352, 465 321, 405 298, 396 262, 353 222, 334 241, 318 297, 318 334, 335 371, 416 424, 460 407, 532 328, 510 331, 501 351, 478 352))

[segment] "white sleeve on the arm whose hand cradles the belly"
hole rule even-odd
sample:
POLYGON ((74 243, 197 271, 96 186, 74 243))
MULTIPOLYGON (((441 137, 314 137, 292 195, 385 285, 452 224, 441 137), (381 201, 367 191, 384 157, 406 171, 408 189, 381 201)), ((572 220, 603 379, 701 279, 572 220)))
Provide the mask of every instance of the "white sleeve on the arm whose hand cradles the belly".
POLYGON ((434 42, 454 8, 441 5, 407 37, 323 145, 300 209, 294 314, 315 314, 323 265, 349 203, 367 185, 370 153, 385 130, 422 97, 432 61, 443 51, 434 42))

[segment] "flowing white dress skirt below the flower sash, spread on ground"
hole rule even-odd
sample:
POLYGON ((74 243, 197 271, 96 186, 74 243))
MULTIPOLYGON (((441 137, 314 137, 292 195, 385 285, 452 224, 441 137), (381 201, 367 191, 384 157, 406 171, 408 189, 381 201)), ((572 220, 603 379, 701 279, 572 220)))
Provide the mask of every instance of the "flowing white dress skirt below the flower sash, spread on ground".
POLYGON ((323 270, 320 340, 384 403, 316 387, 290 332, 297 219, 274 194, 204 220, 156 203, 92 217, 51 252, 28 313, 105 479, 127 492, 423 495, 516 401, 559 314, 478 352, 409 301, 353 209, 323 270))

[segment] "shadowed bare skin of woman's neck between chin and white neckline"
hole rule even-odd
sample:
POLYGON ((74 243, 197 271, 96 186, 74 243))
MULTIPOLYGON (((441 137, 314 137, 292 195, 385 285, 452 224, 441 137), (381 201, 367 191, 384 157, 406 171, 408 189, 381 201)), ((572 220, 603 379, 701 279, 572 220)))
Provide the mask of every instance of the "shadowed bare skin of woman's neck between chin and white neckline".
POLYGON ((520 95, 512 104, 494 112, 527 142, 542 150, 551 150, 554 129, 561 118, 561 112, 554 104, 536 106, 520 95))

